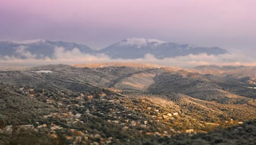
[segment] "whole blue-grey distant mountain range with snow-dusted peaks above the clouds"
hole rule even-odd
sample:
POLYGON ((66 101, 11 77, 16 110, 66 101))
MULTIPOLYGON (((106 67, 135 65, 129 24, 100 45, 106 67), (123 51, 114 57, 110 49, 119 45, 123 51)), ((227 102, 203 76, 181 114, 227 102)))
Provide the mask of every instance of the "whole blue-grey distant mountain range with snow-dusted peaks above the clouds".
POLYGON ((38 39, 23 42, 0 41, 0 59, 12 57, 19 59, 56 59, 54 55, 58 51, 56 48, 62 48, 63 51, 78 49, 82 54, 106 54, 111 59, 139 59, 145 57, 146 54, 151 54, 157 59, 202 53, 216 56, 228 52, 218 47, 206 48, 145 38, 124 39, 100 51, 79 43, 38 39))

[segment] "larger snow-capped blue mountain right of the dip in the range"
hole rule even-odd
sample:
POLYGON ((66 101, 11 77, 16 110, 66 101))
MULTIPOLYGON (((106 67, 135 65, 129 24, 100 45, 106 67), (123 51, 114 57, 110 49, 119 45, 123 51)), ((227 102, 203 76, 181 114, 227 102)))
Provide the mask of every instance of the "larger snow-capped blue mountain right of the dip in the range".
POLYGON ((190 44, 168 43, 158 39, 131 38, 108 46, 100 52, 107 54, 112 59, 138 59, 146 54, 152 54, 157 59, 164 59, 202 53, 219 55, 228 51, 217 47, 206 48, 190 44))

